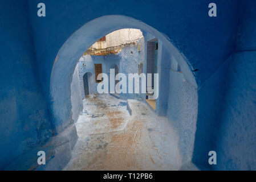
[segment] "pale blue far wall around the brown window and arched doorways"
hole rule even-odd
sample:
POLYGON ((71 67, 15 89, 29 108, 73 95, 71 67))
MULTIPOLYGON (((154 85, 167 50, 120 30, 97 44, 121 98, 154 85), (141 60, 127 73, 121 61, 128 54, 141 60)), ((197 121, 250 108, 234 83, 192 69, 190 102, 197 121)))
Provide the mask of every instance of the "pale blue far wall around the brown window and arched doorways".
MULTIPOLYGON (((108 55, 108 56, 91 56, 86 55, 82 56, 78 62, 78 70, 80 82, 82 82, 80 90, 82 92, 82 97, 84 98, 84 90, 83 90, 83 75, 87 72, 92 73, 92 79, 90 80, 90 94, 97 93, 97 83, 95 82, 95 69, 94 64, 102 65, 102 72, 106 73, 109 76, 110 69, 113 69, 113 65, 117 65, 119 69, 119 73, 124 73, 127 76, 127 84, 128 84, 128 73, 138 73, 138 64, 144 63, 144 39, 141 38, 136 41, 136 46, 128 45, 124 46, 119 53, 116 55, 108 55), (137 44, 141 44, 141 51, 138 51, 137 44), (132 52, 132 53, 131 53, 132 52), (86 64, 84 67, 83 64, 86 64)), ((141 84, 141 83, 140 83, 141 84)), ((133 82, 134 88, 135 82, 133 82)), ((89 87, 90 87, 89 86, 89 87)), ((110 88, 109 88, 110 89, 110 88)), ((128 92, 128 88, 127 88, 128 92)), ((123 98, 139 98, 140 94, 120 94, 123 98)))

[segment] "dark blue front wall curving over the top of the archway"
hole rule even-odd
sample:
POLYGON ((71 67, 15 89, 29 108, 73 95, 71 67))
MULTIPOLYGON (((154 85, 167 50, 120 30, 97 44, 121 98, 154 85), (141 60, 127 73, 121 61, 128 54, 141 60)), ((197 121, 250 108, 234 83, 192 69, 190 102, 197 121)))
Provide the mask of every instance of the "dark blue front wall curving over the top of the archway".
MULTIPOLYGON (((238 24, 236 19, 239 17, 238 1, 219 1, 220 14, 215 19, 209 19, 208 16, 210 1, 109 1, 108 6, 104 7, 101 6, 101 3, 105 3, 103 1, 91 2, 90 6, 86 1, 44 1, 47 6, 44 18, 36 16, 38 9, 35 7, 40 1, 28 2, 36 61, 40 63, 36 72, 47 97, 50 95, 52 65, 60 47, 83 24, 99 16, 131 16, 164 32, 186 57, 191 70, 198 69, 194 72, 198 85, 212 75, 233 50, 238 24), (148 14, 150 11, 158 13, 148 14)), ((51 103, 51 98, 47 101, 51 103)), ((65 103, 61 105, 65 106, 65 103)), ((63 122, 69 121, 68 118, 69 115, 63 115, 63 122)), ((53 118, 52 123, 58 130, 70 125, 70 122, 55 123, 55 120, 53 118)))

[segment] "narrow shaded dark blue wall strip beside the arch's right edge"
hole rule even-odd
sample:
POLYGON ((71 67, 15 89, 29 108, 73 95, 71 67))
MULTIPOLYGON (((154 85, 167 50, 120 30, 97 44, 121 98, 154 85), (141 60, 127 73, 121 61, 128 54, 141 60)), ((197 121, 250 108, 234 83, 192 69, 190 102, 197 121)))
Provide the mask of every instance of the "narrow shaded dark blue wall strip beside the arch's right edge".
POLYGON ((201 169, 210 169, 208 152, 216 151, 217 138, 223 113, 226 77, 233 56, 212 75, 198 90, 198 119, 193 162, 201 169))

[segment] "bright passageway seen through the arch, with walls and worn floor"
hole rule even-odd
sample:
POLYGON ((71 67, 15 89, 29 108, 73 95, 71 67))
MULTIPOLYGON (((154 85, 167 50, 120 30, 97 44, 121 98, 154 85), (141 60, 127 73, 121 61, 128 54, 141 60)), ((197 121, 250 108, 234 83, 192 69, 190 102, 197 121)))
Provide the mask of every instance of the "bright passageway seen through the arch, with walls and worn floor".
MULTIPOLYGON (((179 142, 188 118, 179 106, 191 88, 170 50, 155 35, 124 28, 83 53, 71 82, 79 138, 65 170, 177 170, 190 161, 193 145, 179 142)), ((193 143, 193 133, 185 137, 193 143)))

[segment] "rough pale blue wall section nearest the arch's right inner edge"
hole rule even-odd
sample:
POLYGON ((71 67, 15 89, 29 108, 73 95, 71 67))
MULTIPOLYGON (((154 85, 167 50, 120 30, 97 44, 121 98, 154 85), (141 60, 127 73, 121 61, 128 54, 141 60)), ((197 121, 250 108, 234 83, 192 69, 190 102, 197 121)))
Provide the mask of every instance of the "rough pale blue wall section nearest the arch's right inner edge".
POLYGON ((184 80, 182 73, 170 70, 166 116, 179 131, 182 162, 192 160, 197 123, 197 89, 184 80))

